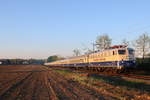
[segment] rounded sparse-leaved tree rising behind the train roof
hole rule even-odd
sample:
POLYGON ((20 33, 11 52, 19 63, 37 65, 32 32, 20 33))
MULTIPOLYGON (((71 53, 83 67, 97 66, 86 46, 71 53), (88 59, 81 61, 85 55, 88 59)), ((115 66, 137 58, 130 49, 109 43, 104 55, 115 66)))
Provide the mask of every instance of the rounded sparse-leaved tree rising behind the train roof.
POLYGON ((110 39, 110 37, 107 34, 100 35, 97 37, 96 47, 98 50, 104 50, 111 46, 111 41, 112 39, 110 39))

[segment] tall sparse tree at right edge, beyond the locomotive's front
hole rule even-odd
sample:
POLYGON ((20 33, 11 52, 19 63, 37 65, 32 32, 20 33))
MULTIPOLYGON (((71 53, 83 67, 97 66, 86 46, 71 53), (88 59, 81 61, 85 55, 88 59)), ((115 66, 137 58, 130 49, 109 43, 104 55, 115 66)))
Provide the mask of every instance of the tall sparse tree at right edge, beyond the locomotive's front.
POLYGON ((150 36, 147 33, 143 33, 134 43, 138 56, 142 56, 143 60, 150 52, 150 36))

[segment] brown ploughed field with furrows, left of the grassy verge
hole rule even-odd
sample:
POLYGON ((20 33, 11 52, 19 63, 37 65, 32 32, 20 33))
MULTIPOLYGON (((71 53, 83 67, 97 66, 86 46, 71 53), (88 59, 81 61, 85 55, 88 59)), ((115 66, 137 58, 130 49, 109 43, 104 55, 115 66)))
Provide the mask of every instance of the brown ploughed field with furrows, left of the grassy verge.
POLYGON ((42 65, 0 66, 0 100, 112 100, 42 65))

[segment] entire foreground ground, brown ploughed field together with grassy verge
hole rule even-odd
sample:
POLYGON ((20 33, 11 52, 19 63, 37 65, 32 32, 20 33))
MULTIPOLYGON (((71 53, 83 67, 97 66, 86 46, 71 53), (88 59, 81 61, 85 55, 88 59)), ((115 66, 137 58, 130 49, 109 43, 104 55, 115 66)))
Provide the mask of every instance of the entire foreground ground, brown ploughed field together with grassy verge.
POLYGON ((42 65, 7 65, 0 66, 0 100, 150 100, 150 82, 42 65))

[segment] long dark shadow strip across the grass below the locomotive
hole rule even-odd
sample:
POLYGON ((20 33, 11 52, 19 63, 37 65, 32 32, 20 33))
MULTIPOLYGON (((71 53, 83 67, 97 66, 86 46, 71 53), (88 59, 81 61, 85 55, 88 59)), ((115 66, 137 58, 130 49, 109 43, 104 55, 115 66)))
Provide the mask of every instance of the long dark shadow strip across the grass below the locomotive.
POLYGON ((147 91, 150 92, 150 85, 145 84, 143 82, 136 82, 136 81, 128 81, 124 80, 121 77, 110 77, 110 76, 103 76, 103 75, 97 75, 97 74, 91 74, 89 77, 104 81, 108 84, 114 85, 114 86, 126 86, 127 88, 134 88, 138 89, 140 91, 147 91))

